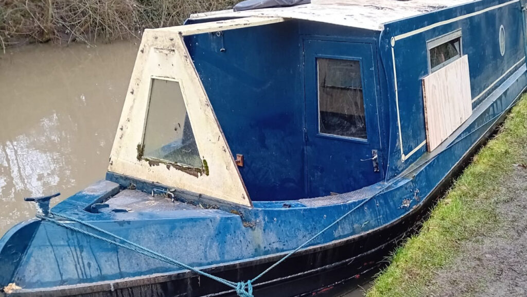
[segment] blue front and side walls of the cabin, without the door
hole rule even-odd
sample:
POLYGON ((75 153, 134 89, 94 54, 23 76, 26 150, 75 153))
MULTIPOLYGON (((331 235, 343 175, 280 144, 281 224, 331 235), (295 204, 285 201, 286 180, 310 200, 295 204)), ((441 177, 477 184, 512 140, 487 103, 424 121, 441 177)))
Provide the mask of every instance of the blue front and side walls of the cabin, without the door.
MULTIPOLYGON (((458 29, 462 31, 463 54, 469 57, 476 107, 523 64, 519 1, 479 1, 446 8, 386 24, 383 32, 290 20, 224 31, 222 36, 195 35, 186 37, 186 43, 232 154, 245 157, 245 166, 239 169, 251 199, 284 200, 313 197, 306 186, 302 131, 307 88, 302 64, 304 40, 379 45, 374 53, 379 74, 379 158, 382 176, 389 179, 427 151, 421 84, 429 74, 426 42, 458 29), (456 20, 449 21, 453 18, 456 20), (504 56, 499 48, 501 25, 505 28, 504 56), (395 41, 392 57, 392 37, 408 32, 395 41)), ((350 185, 348 190, 354 189, 350 185)))

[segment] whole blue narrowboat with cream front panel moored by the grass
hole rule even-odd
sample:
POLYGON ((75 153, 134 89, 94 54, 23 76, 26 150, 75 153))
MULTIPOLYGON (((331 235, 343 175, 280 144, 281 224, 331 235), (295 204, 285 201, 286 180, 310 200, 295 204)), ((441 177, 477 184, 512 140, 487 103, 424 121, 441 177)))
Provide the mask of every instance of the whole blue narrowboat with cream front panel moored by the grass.
MULTIPOLYGON (((523 0, 145 30, 104 180, 0 239, 8 296, 304 296, 380 265, 527 86, 523 0)), ((273 6, 273 5, 271 5, 273 6)))

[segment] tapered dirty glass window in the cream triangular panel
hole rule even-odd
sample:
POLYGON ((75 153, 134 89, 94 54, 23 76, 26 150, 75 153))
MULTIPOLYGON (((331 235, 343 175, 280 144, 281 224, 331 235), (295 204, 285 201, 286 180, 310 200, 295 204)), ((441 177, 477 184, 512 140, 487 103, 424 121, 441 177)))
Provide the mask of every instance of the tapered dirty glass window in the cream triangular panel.
POLYGON ((145 159, 203 167, 180 82, 151 79, 143 145, 145 159))

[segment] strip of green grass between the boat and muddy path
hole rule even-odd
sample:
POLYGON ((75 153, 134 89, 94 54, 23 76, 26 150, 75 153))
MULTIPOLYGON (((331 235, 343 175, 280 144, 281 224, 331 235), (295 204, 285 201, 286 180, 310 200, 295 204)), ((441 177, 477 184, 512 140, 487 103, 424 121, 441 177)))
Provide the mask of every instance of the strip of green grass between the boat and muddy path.
POLYGON ((418 235, 409 238, 375 280, 368 297, 423 296, 436 271, 451 263, 464 241, 492 232, 499 182, 527 151, 527 95, 513 108, 495 138, 432 210, 418 235))

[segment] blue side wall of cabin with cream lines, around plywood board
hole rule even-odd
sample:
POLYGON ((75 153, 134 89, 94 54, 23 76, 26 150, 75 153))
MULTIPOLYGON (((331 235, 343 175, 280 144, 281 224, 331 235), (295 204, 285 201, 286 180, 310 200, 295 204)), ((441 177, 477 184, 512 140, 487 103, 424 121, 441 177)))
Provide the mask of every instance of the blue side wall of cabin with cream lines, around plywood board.
POLYGON ((462 53, 469 58, 474 108, 524 64, 523 22, 519 1, 480 1, 385 25, 379 48, 388 82, 390 117, 394 123, 391 127, 387 179, 400 174, 427 151, 421 81, 429 74, 426 42, 461 28, 462 53), (503 56, 499 45, 501 25, 505 28, 503 56), (394 42, 392 57, 394 36, 399 36, 399 39, 394 42), (399 140, 393 59, 401 140, 406 159, 402 157, 399 140))

